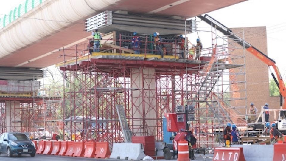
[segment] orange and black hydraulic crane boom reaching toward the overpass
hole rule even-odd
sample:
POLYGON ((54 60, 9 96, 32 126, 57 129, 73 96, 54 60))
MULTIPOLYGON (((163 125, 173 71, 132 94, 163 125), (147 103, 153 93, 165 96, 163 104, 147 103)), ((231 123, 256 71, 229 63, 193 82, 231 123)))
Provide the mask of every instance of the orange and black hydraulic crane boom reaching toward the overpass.
POLYGON ((229 28, 227 28, 226 26, 224 26, 223 24, 221 24, 219 21, 215 20, 211 16, 205 14, 205 16, 202 16, 202 15, 198 16, 198 18, 200 18, 201 20, 205 21, 207 24, 211 25, 212 27, 215 27, 217 30, 219 30, 220 32, 222 32, 224 35, 228 36, 232 40, 236 41, 238 44, 240 44, 242 47, 244 47, 248 52, 250 52, 256 58, 260 59, 262 62, 267 64, 268 67, 270 67, 270 66, 273 67, 273 69, 274 69, 274 71, 276 73, 278 81, 277 81, 274 73, 271 70, 270 70, 270 72, 271 72, 271 75, 272 75, 276 85, 279 88, 279 92, 280 92, 280 106, 282 106, 283 109, 286 109, 285 84, 284 84, 284 81, 283 81, 283 79, 281 77, 281 74, 279 72, 278 67, 275 65, 276 62, 273 59, 269 58, 267 55, 265 55, 263 52, 261 52, 258 49, 256 49, 254 46, 252 46, 248 42, 245 42, 239 36, 235 35, 229 28))

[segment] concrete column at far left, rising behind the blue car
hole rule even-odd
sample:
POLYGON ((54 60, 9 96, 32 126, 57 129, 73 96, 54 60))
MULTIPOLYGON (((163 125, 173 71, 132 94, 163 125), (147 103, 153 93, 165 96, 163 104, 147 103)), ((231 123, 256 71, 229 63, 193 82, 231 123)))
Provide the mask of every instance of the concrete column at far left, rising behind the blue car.
POLYGON ((19 101, 6 101, 6 131, 21 132, 21 107, 19 101))

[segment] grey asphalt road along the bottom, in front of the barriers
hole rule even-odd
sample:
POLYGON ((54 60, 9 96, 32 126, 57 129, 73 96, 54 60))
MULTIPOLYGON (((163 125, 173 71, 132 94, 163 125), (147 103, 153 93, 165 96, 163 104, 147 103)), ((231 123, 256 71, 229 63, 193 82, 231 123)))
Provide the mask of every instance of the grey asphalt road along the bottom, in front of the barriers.
MULTIPOLYGON (((195 154, 197 161, 203 161, 203 155, 195 154)), ((98 161, 122 161, 122 160, 114 160, 114 159, 95 159, 95 158, 82 158, 82 157, 63 157, 63 156, 54 156, 54 155, 40 155, 36 154, 35 157, 30 157, 30 155, 22 155, 17 156, 13 155, 13 157, 9 158, 6 154, 1 154, 0 161, 89 161, 89 160, 98 160, 98 161)), ((205 160, 212 160, 212 156, 206 155, 205 160)), ((167 161, 164 159, 160 159, 160 161, 167 161)), ((175 161, 175 160, 168 160, 168 161, 175 161)))

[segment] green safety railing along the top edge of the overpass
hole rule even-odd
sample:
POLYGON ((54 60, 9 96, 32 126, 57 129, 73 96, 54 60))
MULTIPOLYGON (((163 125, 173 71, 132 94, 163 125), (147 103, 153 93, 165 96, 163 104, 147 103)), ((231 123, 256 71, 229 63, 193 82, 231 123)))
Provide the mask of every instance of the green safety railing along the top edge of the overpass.
POLYGON ((43 3, 46 0, 23 0, 18 6, 10 10, 9 13, 0 17, 0 29, 6 27, 16 19, 23 17, 24 14, 43 3))

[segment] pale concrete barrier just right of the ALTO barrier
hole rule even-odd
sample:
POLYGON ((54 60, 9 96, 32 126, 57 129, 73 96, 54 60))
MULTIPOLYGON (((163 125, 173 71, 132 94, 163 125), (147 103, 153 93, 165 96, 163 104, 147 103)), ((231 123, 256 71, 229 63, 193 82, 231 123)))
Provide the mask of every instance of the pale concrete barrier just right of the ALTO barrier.
POLYGON ((231 145, 231 147, 242 147, 245 161, 269 161, 273 160, 273 145, 231 145))

